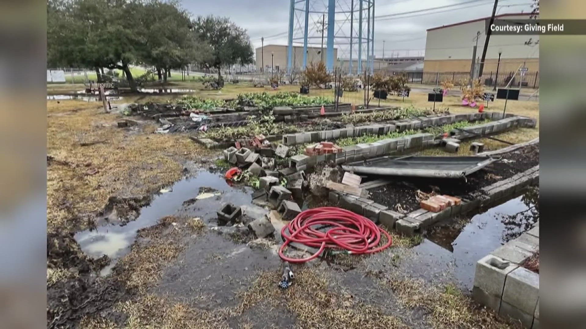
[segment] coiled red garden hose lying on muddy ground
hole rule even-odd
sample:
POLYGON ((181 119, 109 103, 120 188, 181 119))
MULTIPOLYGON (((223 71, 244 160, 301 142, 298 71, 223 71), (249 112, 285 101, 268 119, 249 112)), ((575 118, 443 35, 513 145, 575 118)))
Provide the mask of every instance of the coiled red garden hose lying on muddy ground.
POLYGON ((326 248, 343 249, 348 254, 362 255, 379 252, 393 243, 389 233, 377 227, 373 221, 352 211, 336 207, 302 211, 281 229, 281 235, 285 238, 285 242, 279 249, 279 256, 289 263, 311 261, 326 248), (325 232, 315 228, 324 226, 332 228, 325 232), (379 246, 383 234, 386 235, 387 242, 379 246), (319 248, 319 251, 306 258, 289 258, 283 251, 291 242, 319 248))

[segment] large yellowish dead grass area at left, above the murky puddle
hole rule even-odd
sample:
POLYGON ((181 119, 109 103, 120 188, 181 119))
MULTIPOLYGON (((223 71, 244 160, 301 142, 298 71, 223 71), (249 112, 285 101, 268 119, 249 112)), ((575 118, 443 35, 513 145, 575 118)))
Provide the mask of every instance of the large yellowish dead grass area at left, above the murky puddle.
MULTIPOLYGON (((143 196, 181 176, 182 160, 207 155, 185 135, 117 128, 121 116, 93 103, 47 102, 47 227, 87 228, 72 218, 92 214, 110 196, 143 196), (90 146, 80 143, 103 141, 90 146), (94 173, 96 172, 97 173, 94 173)), ((150 128, 150 129, 149 129, 150 128)), ((141 129, 141 128, 139 128, 141 129)))

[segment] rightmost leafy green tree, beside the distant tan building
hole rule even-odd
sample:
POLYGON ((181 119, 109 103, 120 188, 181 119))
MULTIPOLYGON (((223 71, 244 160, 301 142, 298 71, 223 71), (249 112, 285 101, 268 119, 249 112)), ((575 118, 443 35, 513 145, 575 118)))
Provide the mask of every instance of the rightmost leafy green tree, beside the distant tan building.
POLYGON ((212 47, 212 57, 204 60, 209 67, 217 68, 218 77, 222 67, 234 64, 253 63, 253 47, 246 30, 230 22, 228 18, 199 16, 193 22, 199 40, 212 47))

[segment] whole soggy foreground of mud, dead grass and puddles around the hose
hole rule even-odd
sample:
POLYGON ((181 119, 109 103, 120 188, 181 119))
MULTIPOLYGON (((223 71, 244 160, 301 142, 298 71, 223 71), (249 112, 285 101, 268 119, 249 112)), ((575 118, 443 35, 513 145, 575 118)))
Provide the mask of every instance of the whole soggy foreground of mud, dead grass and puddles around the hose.
POLYGON ((430 257, 432 242, 394 232, 376 255, 293 266, 281 290, 275 238, 217 226, 220 204, 251 207, 253 193, 209 170, 219 153, 147 124, 115 128, 120 118, 49 110, 47 327, 515 327, 472 302, 449 251, 430 257))

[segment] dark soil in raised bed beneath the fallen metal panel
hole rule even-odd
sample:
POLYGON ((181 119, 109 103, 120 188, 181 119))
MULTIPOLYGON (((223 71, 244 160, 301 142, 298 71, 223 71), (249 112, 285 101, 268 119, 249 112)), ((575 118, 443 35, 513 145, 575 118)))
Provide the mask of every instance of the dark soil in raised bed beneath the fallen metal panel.
POLYGON ((370 189, 370 198, 394 210, 407 212, 420 208, 417 191, 424 193, 447 194, 468 198, 474 191, 489 186, 499 180, 507 179, 539 165, 539 145, 526 146, 509 153, 498 155, 500 159, 478 172, 460 179, 391 179, 391 183, 370 189), (400 208, 397 209, 398 205, 400 208))

